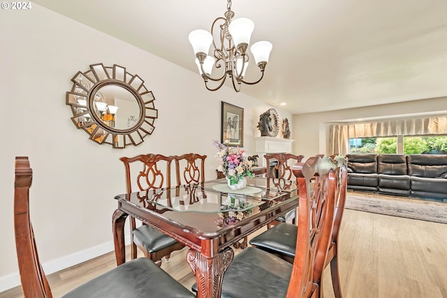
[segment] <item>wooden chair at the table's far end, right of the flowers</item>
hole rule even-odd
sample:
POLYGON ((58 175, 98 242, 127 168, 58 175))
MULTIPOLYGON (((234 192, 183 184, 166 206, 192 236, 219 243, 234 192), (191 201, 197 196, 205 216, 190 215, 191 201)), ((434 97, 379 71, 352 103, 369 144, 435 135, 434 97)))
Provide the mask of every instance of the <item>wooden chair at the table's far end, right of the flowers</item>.
MULTIPOLYGON (((293 175, 293 165, 295 163, 300 163, 303 155, 295 155, 291 153, 274 153, 274 154, 265 154, 265 162, 269 170, 265 175, 268 180, 268 186, 270 187, 270 182, 274 187, 279 188, 280 190, 287 190, 290 188, 292 183, 296 183, 296 178, 293 175), (273 165, 270 166, 270 163, 273 165)), ((287 218, 292 218, 293 222, 295 222, 295 211, 291 211, 286 216, 281 216, 277 218, 277 220, 272 221, 267 225, 267 228, 270 229, 274 225, 279 223, 285 223, 287 218)))

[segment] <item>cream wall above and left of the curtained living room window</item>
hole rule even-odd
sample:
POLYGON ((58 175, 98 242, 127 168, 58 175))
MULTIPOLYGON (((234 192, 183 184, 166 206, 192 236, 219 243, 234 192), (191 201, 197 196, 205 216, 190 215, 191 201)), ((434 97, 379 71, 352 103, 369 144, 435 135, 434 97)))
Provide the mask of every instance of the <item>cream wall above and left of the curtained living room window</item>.
MULTIPOLYGON (((330 122, 346 119, 367 119, 378 117, 380 119, 395 118, 413 114, 415 117, 421 114, 446 115, 447 98, 430 98, 425 100, 412 100, 405 103, 392 103, 388 105, 373 105, 354 109, 337 110, 312 114, 298 114, 293 116, 292 138, 293 152, 303 154, 305 159, 309 156, 330 154, 326 152, 328 142, 328 125, 330 122)), ((420 117, 420 116, 419 116, 420 117)))

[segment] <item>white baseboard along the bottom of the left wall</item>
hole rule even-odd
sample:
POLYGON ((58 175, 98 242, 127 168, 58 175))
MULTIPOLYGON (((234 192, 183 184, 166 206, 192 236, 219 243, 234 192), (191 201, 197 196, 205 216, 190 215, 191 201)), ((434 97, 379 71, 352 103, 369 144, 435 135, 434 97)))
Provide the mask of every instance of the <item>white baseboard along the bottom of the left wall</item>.
MULTIPOLYGON (((126 245, 129 245, 130 237, 126 235, 124 239, 126 239, 126 245)), ((66 255, 62 258, 58 258, 56 260, 50 260, 49 262, 42 264, 43 271, 45 271, 45 274, 47 275, 52 274, 62 269, 78 265, 87 260, 91 260, 105 253, 110 253, 110 251, 114 250, 115 246, 113 244, 113 241, 108 241, 104 244, 93 246, 83 251, 78 251, 76 253, 72 253, 71 255, 66 255)), ((17 285, 20 285, 20 274, 18 271, 13 274, 0 276, 0 292, 15 288, 17 287, 17 285)))

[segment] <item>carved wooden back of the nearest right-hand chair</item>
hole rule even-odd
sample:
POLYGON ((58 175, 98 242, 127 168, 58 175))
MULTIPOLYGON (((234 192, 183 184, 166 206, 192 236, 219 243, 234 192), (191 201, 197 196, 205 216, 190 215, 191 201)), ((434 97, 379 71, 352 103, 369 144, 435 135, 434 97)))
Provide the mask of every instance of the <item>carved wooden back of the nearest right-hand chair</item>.
POLYGON ((335 209, 335 168, 332 159, 314 156, 297 163, 298 235, 286 297, 318 297, 332 235, 335 209), (314 179, 312 191, 311 181, 314 179))

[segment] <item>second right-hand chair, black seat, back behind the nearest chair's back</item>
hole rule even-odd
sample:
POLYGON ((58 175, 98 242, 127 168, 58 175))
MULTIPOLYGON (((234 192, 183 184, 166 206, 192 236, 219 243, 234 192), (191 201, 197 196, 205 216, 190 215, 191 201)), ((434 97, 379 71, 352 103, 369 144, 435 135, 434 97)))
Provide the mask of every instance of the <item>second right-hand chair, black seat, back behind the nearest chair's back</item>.
MULTIPOLYGON (((339 281, 339 267, 338 267, 338 238, 339 228, 342 223, 344 204, 346 202, 346 187, 347 187, 347 159, 344 156, 332 156, 332 159, 337 162, 337 182, 336 182, 336 197, 335 197, 335 216, 333 218, 333 228, 330 246, 328 250, 328 257, 325 260, 325 267, 330 264, 330 273, 332 277, 332 287, 334 289, 335 297, 342 298, 342 291, 339 281)), ((250 244, 263 251, 267 251, 279 258, 293 263, 295 259, 296 246, 296 231, 298 227, 290 223, 281 223, 274 228, 259 234, 257 237, 251 239, 250 244)), ((322 294, 322 292, 321 292, 322 294)))

